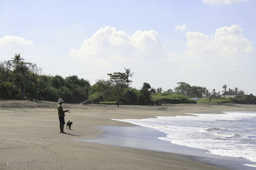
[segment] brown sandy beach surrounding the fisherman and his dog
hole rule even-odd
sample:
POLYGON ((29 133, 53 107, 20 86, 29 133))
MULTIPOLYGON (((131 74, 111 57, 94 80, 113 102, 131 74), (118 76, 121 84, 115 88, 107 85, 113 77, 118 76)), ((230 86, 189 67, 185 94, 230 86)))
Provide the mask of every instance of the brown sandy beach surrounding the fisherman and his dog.
MULTIPOLYGON (((255 111, 255 105, 178 104, 132 106, 86 104, 66 113, 73 122, 67 134, 59 133, 57 102, 0 101, 0 169, 189 169, 219 170, 187 155, 77 141, 94 139, 103 131, 97 126, 134 126, 111 119, 141 119, 184 113, 255 111), (142 107, 142 108, 137 108, 142 107)), ((75 104, 62 104, 70 109, 75 104)))

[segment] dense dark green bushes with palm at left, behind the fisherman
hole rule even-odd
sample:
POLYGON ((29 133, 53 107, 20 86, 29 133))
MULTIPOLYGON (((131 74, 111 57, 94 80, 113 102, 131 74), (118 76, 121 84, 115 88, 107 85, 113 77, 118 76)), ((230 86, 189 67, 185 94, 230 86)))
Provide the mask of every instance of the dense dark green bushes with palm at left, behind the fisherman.
POLYGON ((90 83, 77 76, 42 75, 36 64, 25 62, 20 54, 0 62, 1 99, 38 99, 81 103, 88 99, 90 83))

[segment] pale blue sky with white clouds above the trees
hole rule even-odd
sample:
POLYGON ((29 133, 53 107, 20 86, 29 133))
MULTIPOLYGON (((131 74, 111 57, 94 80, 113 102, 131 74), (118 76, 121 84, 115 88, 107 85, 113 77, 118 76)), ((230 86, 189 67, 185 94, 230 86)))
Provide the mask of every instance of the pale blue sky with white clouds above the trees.
POLYGON ((0 61, 95 84, 130 69, 131 86, 177 82, 256 95, 255 0, 0 0, 0 61))

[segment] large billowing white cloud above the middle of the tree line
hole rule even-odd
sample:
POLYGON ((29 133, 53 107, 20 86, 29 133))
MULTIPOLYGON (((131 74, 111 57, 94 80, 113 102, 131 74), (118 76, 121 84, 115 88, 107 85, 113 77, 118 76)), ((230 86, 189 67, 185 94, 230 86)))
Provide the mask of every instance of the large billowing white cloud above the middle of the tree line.
POLYGON ((69 55, 111 65, 113 61, 156 59, 161 55, 167 56, 167 52, 160 42, 159 34, 153 30, 136 31, 129 36, 124 31, 106 26, 96 31, 90 39, 84 40, 81 48, 72 48, 69 55))

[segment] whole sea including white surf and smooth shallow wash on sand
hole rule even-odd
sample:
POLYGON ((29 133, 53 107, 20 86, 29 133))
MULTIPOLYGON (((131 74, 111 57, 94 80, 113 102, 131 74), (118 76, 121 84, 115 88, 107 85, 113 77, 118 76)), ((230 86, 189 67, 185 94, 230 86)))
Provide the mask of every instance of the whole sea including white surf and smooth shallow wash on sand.
POLYGON ((186 154, 231 169, 256 169, 256 112, 112 120, 139 126, 98 127, 106 131, 100 139, 79 140, 186 154))

